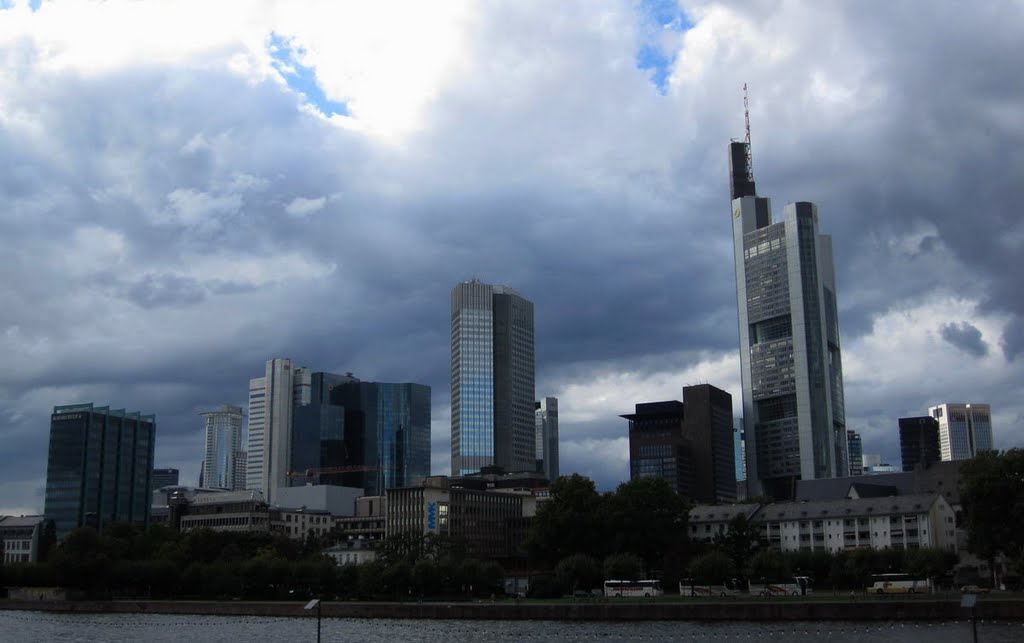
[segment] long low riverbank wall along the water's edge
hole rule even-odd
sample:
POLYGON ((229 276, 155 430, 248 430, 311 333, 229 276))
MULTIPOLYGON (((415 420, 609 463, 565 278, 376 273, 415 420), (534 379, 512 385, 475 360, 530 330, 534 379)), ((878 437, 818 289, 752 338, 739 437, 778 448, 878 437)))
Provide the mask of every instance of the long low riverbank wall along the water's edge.
MULTIPOLYGON (((0 600, 0 609, 49 612, 310 616, 301 602, 247 601, 25 601, 0 600)), ((953 600, 730 601, 730 602, 325 602, 331 618, 464 618, 494 620, 962 620, 971 610, 953 600)), ((1024 600, 985 597, 975 615, 1024 620, 1024 600)))

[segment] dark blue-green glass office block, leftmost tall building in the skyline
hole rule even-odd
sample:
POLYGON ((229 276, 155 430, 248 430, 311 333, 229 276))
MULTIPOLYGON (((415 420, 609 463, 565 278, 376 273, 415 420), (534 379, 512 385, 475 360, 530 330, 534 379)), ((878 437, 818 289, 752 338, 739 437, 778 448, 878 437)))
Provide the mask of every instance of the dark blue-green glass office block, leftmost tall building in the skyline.
POLYGON ((80 526, 150 520, 157 421, 124 409, 54 406, 44 513, 58 539, 80 526))

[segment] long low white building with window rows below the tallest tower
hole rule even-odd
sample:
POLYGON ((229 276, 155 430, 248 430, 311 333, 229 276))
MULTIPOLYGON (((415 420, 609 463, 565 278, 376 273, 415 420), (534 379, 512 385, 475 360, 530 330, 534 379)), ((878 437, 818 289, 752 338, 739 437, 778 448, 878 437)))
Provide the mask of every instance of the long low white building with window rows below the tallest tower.
POLYGON ((690 511, 693 540, 710 541, 728 528, 733 515, 749 515, 769 547, 784 552, 852 549, 957 551, 955 512, 939 494, 835 501, 774 503, 735 511, 697 506, 690 511))

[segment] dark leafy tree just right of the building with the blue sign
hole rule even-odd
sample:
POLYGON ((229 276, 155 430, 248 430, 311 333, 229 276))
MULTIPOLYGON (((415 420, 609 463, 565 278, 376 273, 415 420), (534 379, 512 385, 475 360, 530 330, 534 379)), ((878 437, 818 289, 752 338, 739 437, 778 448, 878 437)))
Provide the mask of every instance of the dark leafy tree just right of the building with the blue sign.
POLYGON ((601 523, 603 499, 593 480, 573 473, 556 478, 523 546, 534 560, 554 564, 572 554, 603 558, 609 529, 601 523))

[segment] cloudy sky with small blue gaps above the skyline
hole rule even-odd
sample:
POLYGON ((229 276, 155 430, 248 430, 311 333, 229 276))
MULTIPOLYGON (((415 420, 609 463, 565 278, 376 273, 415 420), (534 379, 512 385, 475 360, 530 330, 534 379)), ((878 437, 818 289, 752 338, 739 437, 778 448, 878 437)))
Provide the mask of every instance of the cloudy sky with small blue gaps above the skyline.
POLYGON ((535 302, 561 467, 613 488, 685 385, 740 413, 726 149, 833 235, 848 428, 992 405, 1024 446, 1024 4, 0 0, 0 514, 49 414, 202 418, 272 357, 432 387, 450 293, 535 302))

